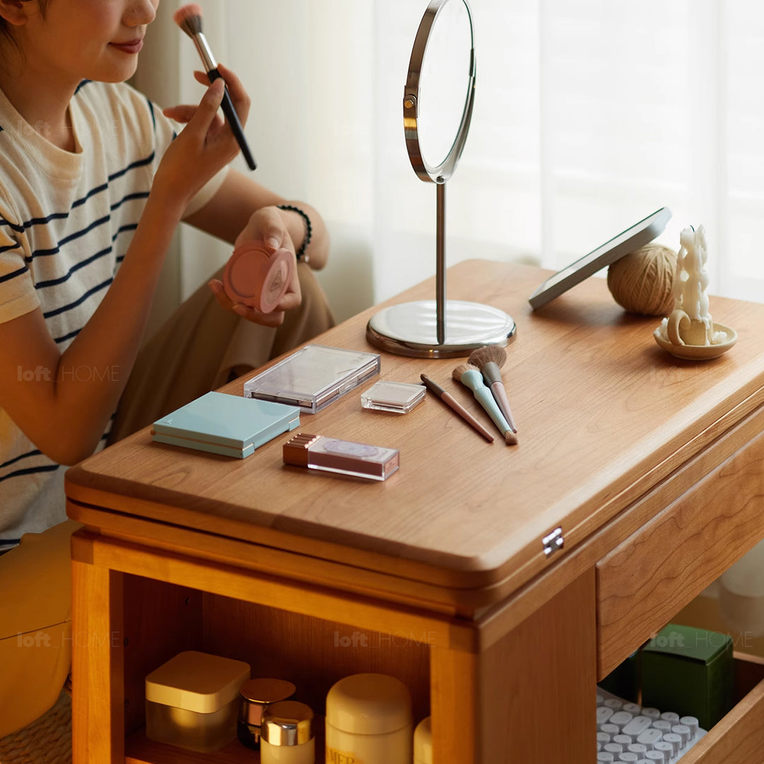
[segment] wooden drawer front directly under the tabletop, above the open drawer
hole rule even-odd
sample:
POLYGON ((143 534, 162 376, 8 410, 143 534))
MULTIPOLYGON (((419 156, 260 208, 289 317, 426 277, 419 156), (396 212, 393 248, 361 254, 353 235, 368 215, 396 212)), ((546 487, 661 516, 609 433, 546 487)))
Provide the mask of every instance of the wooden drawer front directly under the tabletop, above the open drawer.
POLYGON ((762 536, 764 434, 597 563, 597 678, 669 623, 762 536))

